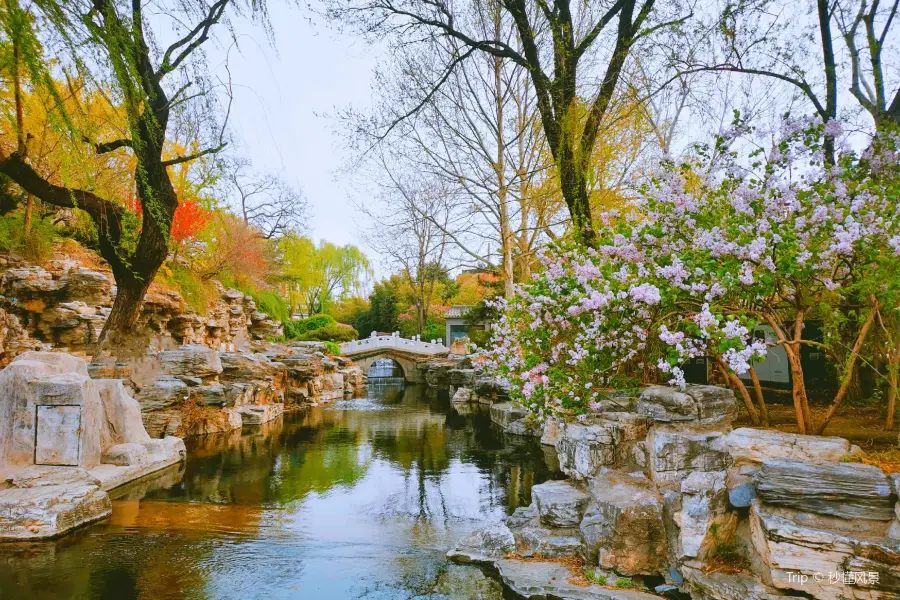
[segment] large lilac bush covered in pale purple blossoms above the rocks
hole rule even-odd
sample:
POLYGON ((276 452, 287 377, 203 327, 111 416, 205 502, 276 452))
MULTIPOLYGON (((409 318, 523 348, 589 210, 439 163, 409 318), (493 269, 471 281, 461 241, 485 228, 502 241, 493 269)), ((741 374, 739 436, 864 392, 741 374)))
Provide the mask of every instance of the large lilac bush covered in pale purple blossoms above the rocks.
POLYGON ((626 210, 603 214, 595 246, 543 256, 542 272, 501 301, 488 354, 517 399, 538 418, 587 415, 610 389, 683 386, 681 365, 707 357, 755 420, 737 375, 765 356, 753 337, 765 323, 788 354, 798 424, 810 431, 803 323, 842 322, 847 306, 863 321, 900 286, 878 276, 900 253, 897 161, 873 145, 826 167, 822 129, 787 123, 770 151, 742 160, 718 138, 660 165, 626 210))

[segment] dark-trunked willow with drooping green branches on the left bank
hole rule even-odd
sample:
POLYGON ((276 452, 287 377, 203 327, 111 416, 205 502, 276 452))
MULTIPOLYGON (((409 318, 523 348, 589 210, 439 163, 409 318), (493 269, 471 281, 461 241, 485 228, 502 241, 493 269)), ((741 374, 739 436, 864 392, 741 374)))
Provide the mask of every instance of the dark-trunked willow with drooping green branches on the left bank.
MULTIPOLYGON (((130 153, 134 199, 102 197, 42 176, 29 162, 27 143, 13 151, 0 149, 0 173, 47 204, 84 210, 97 227, 100 254, 117 286, 99 354, 110 340, 134 330, 144 294, 166 259, 178 206, 168 168, 225 146, 230 82, 211 79, 202 46, 214 29, 230 31, 229 10, 259 14, 262 7, 259 0, 33 0, 22 6, 3 1, 3 29, 12 32, 7 43, 22 50, 17 68, 30 74, 32 86, 52 82, 41 48, 53 48, 57 72, 77 71, 108 93, 123 114, 121 137, 93 139, 90 131, 74 127, 70 137, 98 155, 130 153), (160 43, 157 37, 171 39, 160 43), (173 146, 190 151, 173 154, 173 146), (134 200, 140 205, 139 229, 126 211, 126 203, 134 200)), ((62 106, 55 104, 48 110, 62 106)), ((65 115, 60 122, 72 127, 65 115)))

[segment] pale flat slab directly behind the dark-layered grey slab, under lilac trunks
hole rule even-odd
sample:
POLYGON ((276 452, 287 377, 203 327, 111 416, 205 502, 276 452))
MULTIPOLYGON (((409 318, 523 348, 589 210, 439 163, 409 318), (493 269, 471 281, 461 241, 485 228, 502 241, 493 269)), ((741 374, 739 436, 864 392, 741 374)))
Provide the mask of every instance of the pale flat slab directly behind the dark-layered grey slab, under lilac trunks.
POLYGON ((839 461, 850 454, 851 444, 839 437, 800 435, 767 429, 741 427, 722 438, 725 450, 734 460, 765 462, 789 460, 839 461))

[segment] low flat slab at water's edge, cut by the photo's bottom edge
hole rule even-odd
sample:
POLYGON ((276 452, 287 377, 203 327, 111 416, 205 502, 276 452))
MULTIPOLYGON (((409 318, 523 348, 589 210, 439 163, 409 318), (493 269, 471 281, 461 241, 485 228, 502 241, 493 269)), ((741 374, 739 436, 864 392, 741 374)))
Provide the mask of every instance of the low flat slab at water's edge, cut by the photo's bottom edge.
POLYGON ((569 583, 566 567, 545 561, 501 559, 495 566, 503 585, 523 598, 533 600, 659 600, 659 596, 635 590, 617 590, 599 585, 569 583))

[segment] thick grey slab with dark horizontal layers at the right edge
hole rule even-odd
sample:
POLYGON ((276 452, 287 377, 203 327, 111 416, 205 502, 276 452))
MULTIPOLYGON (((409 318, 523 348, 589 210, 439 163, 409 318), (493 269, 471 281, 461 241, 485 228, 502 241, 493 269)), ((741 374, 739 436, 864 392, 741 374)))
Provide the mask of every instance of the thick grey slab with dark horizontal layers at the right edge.
POLYGON ((759 497, 769 504, 848 519, 894 518, 890 482, 872 465, 770 460, 754 482, 759 497))

